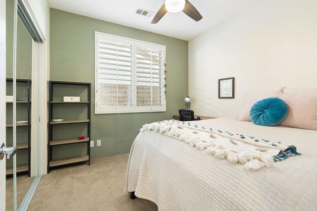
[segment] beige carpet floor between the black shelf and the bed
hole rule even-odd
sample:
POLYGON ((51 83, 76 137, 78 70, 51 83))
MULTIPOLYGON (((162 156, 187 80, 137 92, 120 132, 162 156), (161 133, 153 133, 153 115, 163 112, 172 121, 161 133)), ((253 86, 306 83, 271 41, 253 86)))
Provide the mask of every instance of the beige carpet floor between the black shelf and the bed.
POLYGON ((52 169, 41 177, 28 211, 157 211, 153 202, 124 194, 128 157, 52 169))

